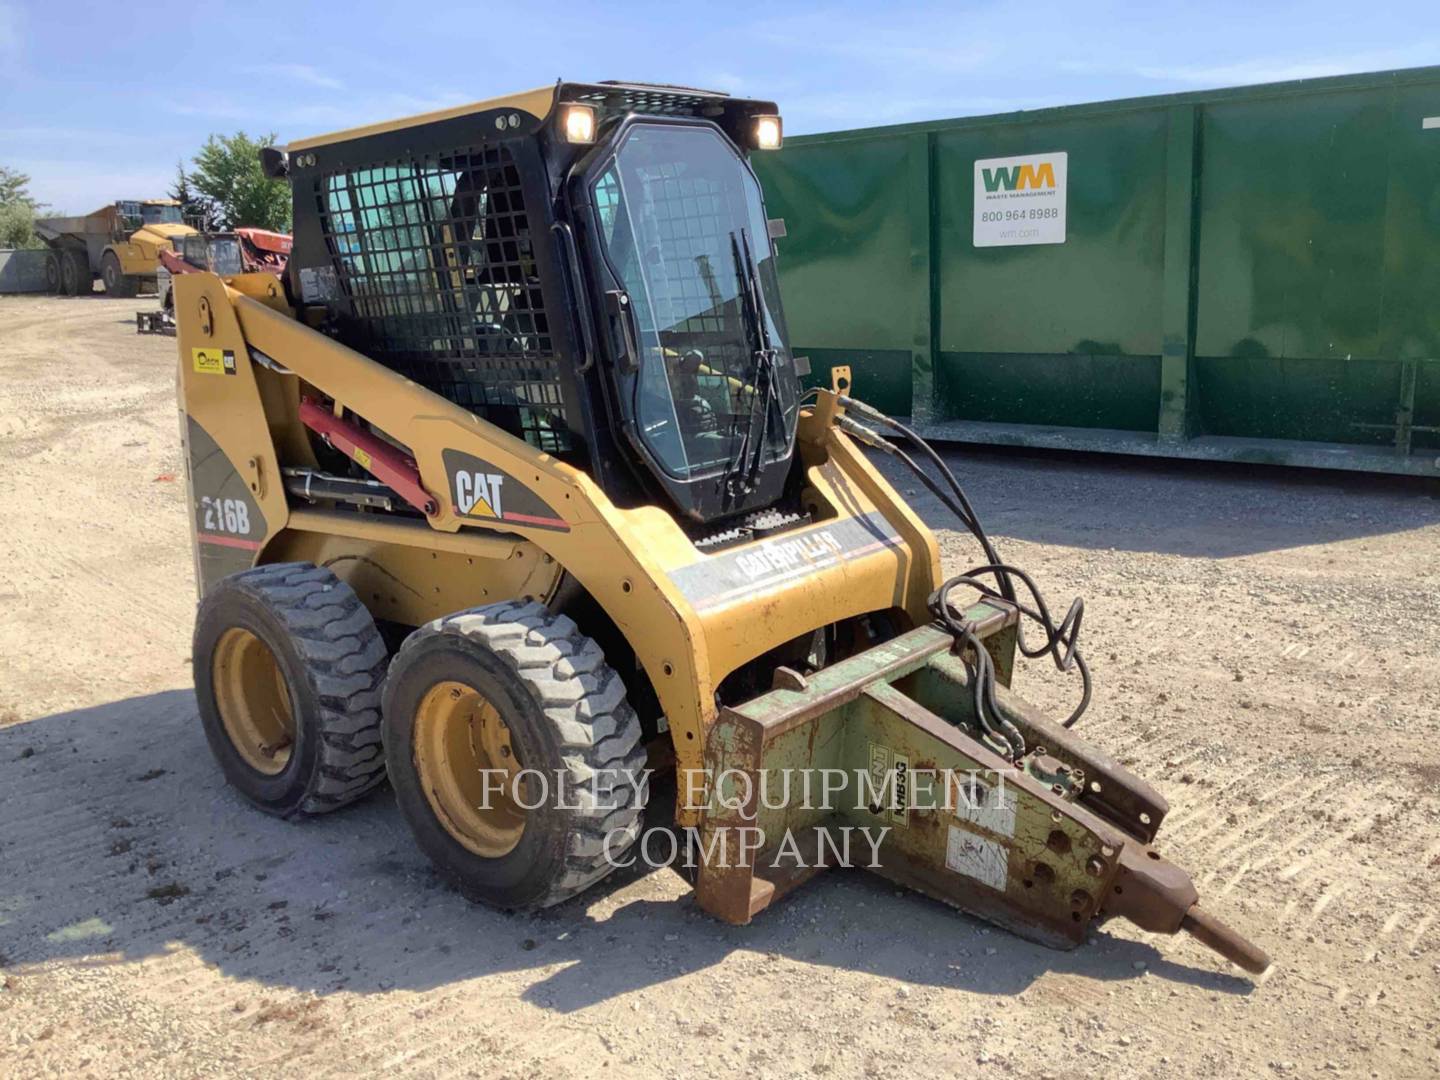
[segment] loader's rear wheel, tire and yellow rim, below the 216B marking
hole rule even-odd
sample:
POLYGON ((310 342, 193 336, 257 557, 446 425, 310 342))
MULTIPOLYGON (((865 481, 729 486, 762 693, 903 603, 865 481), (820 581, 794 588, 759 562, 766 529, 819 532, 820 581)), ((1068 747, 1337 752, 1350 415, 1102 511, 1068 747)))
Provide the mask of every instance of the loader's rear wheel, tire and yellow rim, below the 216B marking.
POLYGON ((200 602, 200 721, 226 779, 266 814, 324 814, 380 783, 384 668, 370 612, 330 570, 261 566, 200 602))

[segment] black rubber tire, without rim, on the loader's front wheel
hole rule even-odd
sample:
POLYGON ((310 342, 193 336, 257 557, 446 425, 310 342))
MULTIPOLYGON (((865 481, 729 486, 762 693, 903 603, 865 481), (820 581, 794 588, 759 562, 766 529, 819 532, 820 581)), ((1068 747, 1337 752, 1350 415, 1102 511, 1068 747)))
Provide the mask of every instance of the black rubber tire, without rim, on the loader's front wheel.
POLYGON ((639 837, 649 798, 641 742, 639 717, 600 647, 533 600, 472 608, 419 628, 384 684, 386 765, 400 812, 441 874, 494 907, 549 907, 615 870, 639 837), (415 716, 444 681, 474 687, 495 706, 523 766, 563 778, 498 858, 452 837, 420 785, 415 716), (554 798, 560 782, 563 801, 554 798))

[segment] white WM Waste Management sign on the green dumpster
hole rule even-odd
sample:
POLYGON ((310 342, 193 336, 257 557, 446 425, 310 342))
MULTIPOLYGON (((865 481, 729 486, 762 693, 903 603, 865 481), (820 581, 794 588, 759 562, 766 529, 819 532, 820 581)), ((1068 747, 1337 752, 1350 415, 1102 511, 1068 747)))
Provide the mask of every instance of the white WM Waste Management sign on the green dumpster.
POLYGON ((975 246, 1066 242, 1066 153, 975 163, 975 246))

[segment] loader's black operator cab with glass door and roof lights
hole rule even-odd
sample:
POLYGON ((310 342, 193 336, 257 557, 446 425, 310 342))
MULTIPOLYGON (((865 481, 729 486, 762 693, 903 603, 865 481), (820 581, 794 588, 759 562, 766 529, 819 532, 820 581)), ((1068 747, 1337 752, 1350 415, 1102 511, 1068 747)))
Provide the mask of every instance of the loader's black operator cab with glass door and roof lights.
POLYGON ((265 160, 292 184, 305 321, 701 540, 775 507, 793 461, 747 161, 779 143, 772 102, 562 82, 265 160))

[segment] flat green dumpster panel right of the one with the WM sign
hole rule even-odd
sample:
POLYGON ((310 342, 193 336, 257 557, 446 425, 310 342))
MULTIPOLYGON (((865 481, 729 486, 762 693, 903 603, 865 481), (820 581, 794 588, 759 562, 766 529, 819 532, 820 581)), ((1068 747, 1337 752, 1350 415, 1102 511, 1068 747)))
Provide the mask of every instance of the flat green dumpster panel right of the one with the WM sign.
POLYGON ((1392 438, 1358 426, 1392 422, 1400 395, 1381 328, 1391 96, 1205 109, 1195 336, 1204 431, 1392 438))

